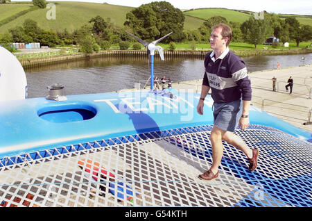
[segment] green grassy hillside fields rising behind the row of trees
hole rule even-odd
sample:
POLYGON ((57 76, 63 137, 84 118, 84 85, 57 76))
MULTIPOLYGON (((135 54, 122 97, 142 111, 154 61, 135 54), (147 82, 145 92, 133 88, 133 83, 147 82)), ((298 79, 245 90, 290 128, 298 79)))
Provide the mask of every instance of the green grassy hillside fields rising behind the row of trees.
MULTIPOLYGON (((49 1, 48 1, 49 2, 49 1)), ((46 19, 46 13, 49 9, 37 9, 21 15, 16 19, 0 26, 0 33, 5 33, 9 28, 21 26, 25 19, 33 19, 38 26, 44 29, 51 29, 53 31, 67 31, 72 32, 76 28, 80 28, 84 24, 88 24, 89 20, 96 15, 110 18, 112 24, 123 27, 125 22, 125 15, 132 10, 132 7, 115 6, 107 3, 87 3, 87 2, 70 2, 58 1, 56 4, 56 19, 46 19)), ((28 10, 33 6, 33 3, 19 3, 19 4, 0 4, 0 24, 3 19, 17 15, 21 11, 28 10)), ((197 29, 200 25, 215 15, 225 17, 227 21, 245 22, 250 17, 252 12, 243 10, 229 10, 226 8, 199 8, 194 10, 187 10, 184 12, 185 22, 184 29, 197 29)), ((312 26, 312 16, 302 15, 279 15, 282 19, 286 16, 295 16, 302 24, 309 24, 312 26)))

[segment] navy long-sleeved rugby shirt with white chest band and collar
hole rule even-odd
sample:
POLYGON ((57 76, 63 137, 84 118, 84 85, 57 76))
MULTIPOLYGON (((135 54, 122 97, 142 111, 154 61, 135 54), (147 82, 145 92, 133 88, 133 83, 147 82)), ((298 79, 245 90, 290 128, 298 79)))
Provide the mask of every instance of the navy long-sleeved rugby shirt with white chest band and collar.
POLYGON ((205 74, 202 85, 211 88, 216 103, 243 99, 251 101, 252 89, 244 61, 229 48, 216 60, 214 51, 205 56, 205 74))

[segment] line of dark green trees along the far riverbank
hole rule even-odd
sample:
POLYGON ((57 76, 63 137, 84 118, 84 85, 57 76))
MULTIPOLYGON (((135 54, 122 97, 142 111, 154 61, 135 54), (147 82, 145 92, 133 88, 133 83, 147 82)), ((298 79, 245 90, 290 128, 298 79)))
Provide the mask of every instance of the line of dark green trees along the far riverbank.
MULTIPOLYGON (((42 1, 35 0, 36 3, 42 1)), ((43 6, 42 6, 43 7, 43 6)), ((110 18, 101 16, 92 17, 89 24, 69 33, 64 31, 55 32, 44 30, 37 26, 37 22, 26 19, 22 26, 9 29, 9 34, 0 35, 0 44, 8 45, 10 42, 40 42, 41 45, 55 47, 56 45, 78 44, 81 51, 90 54, 99 49, 109 49, 112 44, 119 44, 121 49, 128 49, 133 38, 125 33, 132 32, 144 40, 155 40, 169 32, 173 34, 164 39, 163 42, 209 42, 211 27, 220 22, 228 24, 232 28, 233 42, 247 42, 249 44, 263 44, 269 36, 279 38, 280 42, 294 40, 297 43, 309 41, 312 37, 312 27, 302 25, 295 17, 281 19, 275 14, 264 12, 263 19, 250 16, 242 24, 228 22, 225 17, 214 16, 202 23, 200 28, 184 30, 184 14, 178 8, 174 8, 166 1, 147 3, 127 13, 123 28, 116 27, 110 22, 110 18)), ((140 49, 141 45, 133 46, 140 49)), ((9 47, 10 48, 10 47, 9 47)))

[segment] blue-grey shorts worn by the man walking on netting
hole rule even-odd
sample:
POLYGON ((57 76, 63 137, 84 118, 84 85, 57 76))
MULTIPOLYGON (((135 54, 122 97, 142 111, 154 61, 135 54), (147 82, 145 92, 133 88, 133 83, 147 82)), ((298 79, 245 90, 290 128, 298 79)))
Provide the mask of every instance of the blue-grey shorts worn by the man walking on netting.
POLYGON ((239 119, 243 113, 241 99, 229 103, 214 103, 214 125, 223 131, 234 132, 239 126, 239 119))

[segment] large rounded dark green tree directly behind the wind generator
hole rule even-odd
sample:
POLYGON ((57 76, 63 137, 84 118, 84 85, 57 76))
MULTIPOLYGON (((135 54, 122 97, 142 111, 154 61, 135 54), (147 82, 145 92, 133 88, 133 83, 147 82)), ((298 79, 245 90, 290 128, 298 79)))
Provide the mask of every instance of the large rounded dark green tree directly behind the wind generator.
POLYGON ((164 42, 180 42, 184 39, 184 19, 182 11, 171 3, 155 1, 127 13, 124 25, 144 40, 155 40, 172 31, 164 42))

